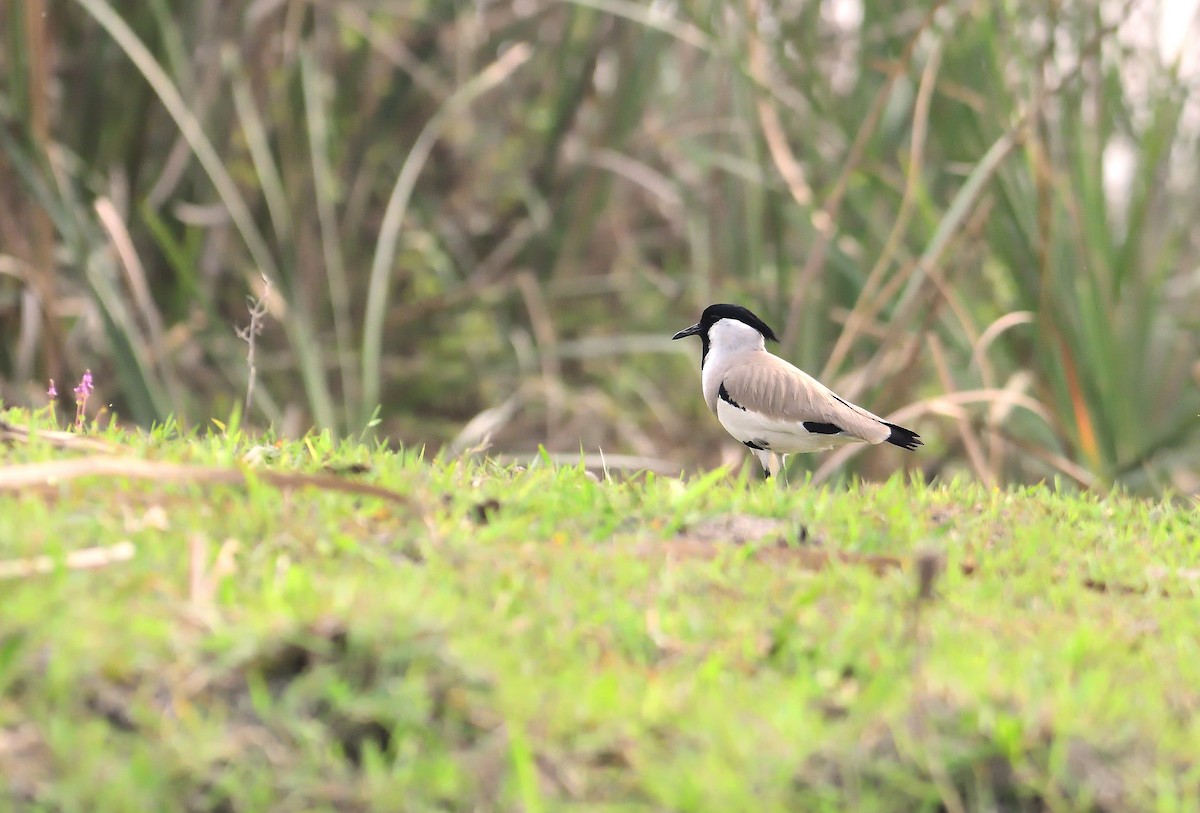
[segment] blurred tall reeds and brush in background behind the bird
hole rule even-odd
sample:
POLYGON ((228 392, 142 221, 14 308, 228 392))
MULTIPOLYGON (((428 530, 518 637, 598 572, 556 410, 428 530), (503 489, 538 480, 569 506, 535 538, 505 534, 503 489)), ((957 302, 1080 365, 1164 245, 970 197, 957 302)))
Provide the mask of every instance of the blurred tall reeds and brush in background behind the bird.
POLYGON ((930 441, 818 480, 1196 492, 1187 5, 0 0, 2 395, 227 415, 259 297, 254 422, 712 465, 737 301, 930 441))

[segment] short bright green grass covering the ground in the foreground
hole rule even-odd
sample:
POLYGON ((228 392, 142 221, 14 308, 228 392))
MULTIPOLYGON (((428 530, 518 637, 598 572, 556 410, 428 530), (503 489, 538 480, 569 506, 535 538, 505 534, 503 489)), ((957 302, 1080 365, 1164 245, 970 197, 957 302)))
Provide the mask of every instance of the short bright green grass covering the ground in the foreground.
MULTIPOLYGON (((101 436, 205 466, 272 451, 239 486, 0 490, 2 560, 136 546, 0 584, 0 808, 1200 803, 1194 505, 101 436), (341 476, 406 501, 253 474, 364 464, 341 476), (918 606, 929 552, 944 568, 918 606)), ((0 456, 0 488, 79 457, 36 436, 0 456)))

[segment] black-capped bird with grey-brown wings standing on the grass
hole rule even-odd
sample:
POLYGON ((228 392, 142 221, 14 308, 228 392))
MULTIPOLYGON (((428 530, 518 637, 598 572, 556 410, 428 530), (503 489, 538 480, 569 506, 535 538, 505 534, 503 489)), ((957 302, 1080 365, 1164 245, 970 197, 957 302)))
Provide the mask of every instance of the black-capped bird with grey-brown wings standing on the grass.
POLYGON ((739 305, 709 305, 672 341, 698 336, 701 390, 725 430, 754 452, 766 477, 788 454, 854 442, 889 442, 908 451, 924 442, 912 429, 840 398, 799 367, 767 350, 775 332, 739 305))

